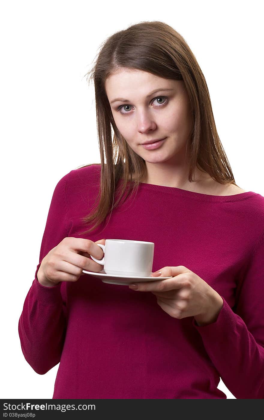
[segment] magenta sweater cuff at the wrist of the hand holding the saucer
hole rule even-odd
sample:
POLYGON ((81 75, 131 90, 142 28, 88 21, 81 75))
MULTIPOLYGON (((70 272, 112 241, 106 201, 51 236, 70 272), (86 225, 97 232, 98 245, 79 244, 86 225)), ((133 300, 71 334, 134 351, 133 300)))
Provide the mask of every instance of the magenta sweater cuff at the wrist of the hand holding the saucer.
POLYGON ((202 337, 208 336, 211 339, 214 335, 219 337, 219 334, 223 334, 223 331, 226 331, 226 325, 229 325, 230 328, 236 327, 237 315, 232 311, 223 296, 221 296, 221 298, 223 299, 223 307, 221 308, 215 322, 199 326, 195 318, 192 320, 192 325, 197 329, 197 331, 199 331, 202 337))

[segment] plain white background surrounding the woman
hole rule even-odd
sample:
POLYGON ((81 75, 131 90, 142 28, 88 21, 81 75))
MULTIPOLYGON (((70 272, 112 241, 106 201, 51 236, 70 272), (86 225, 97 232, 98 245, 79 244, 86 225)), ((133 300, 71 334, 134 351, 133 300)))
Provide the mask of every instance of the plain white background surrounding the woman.
MULTIPOLYGON (((140 21, 176 29, 204 73, 236 183, 264 196, 260 7, 223 0, 1 3, 1 398, 52 398, 59 365, 34 372, 21 351, 18 319, 57 182, 100 162, 93 85, 85 76, 99 45, 140 21)), ((222 381, 219 388, 235 398, 222 381)))

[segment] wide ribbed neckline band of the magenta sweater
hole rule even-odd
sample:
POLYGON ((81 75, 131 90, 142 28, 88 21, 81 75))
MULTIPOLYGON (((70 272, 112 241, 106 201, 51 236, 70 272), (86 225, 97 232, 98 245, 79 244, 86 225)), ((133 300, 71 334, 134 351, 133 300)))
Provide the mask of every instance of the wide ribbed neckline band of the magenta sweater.
POLYGON ((188 191, 186 189, 181 189, 171 186, 155 185, 155 184, 145 184, 145 182, 140 182, 139 188, 150 189, 153 191, 167 192, 168 194, 178 195, 180 197, 186 197, 191 199, 197 199, 200 201, 210 201, 210 202, 228 202, 228 201, 239 201, 244 200, 253 195, 256 195, 256 192, 246 191, 241 192, 240 194, 233 195, 211 195, 211 194, 202 194, 200 192, 188 191))

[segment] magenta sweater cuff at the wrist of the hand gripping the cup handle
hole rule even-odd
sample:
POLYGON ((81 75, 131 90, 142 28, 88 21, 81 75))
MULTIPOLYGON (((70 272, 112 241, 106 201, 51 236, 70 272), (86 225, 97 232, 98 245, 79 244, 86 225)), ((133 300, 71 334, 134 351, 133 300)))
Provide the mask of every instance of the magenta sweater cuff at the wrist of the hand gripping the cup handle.
POLYGON ((39 264, 37 265, 35 279, 33 282, 34 294, 36 299, 45 306, 53 306, 62 303, 62 295, 60 293, 61 283, 52 287, 42 286, 42 284, 39 283, 37 273, 40 265, 41 262, 39 262, 39 264))

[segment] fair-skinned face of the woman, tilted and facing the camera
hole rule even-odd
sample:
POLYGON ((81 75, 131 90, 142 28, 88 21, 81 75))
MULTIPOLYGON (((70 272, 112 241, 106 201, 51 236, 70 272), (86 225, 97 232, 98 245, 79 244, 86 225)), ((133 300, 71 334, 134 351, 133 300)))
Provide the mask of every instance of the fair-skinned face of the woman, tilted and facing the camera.
POLYGON ((193 116, 183 81, 122 69, 106 79, 105 89, 116 126, 137 155, 150 163, 184 158, 193 116), (157 149, 142 146, 164 137, 157 149))

